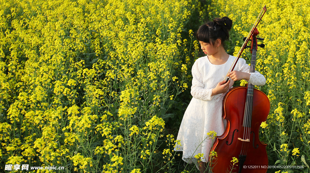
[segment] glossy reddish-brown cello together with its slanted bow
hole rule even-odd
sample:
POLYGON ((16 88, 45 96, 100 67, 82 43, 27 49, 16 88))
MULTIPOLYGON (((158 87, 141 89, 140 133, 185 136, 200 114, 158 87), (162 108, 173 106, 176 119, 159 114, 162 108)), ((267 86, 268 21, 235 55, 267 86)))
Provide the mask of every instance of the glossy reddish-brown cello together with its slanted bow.
MULTIPOLYGON (((259 34, 256 27, 266 10, 264 6, 250 33, 243 39, 245 42, 235 63, 232 64, 233 67, 230 68, 231 71, 237 64, 242 51, 250 47, 252 59, 249 73, 255 73, 257 47, 264 47, 264 44, 257 44, 257 40, 263 40, 263 38, 256 37, 259 34), (248 41, 251 41, 251 46, 247 46, 248 41)), ((226 82, 228 79, 229 77, 226 82)), ((254 89, 250 83, 246 87, 233 87, 228 91, 223 100, 223 118, 227 121, 226 129, 223 135, 215 139, 211 149, 211 152, 216 152, 217 156, 211 156, 211 154, 209 156, 209 166, 214 173, 267 172, 267 144, 259 140, 259 128, 260 124, 266 121, 269 110, 270 102, 267 95, 254 89), (233 157, 238 159, 237 164, 232 164, 233 157)))

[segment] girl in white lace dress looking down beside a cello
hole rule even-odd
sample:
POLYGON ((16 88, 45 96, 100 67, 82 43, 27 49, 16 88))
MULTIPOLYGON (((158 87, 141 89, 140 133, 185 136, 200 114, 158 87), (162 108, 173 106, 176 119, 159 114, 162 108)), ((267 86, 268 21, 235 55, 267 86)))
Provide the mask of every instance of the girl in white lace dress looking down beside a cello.
POLYGON ((213 144, 207 133, 215 131, 218 136, 224 133, 222 104, 228 89, 234 81, 242 79, 257 86, 266 82, 265 77, 259 72, 249 73, 250 66, 242 58, 238 60, 234 71, 227 75, 235 60, 234 56, 226 53, 223 46, 223 42, 229 38, 228 31, 231 27, 232 20, 228 17, 216 18, 213 22, 202 25, 196 35, 206 56, 198 58, 192 67, 193 99, 184 113, 177 137, 180 145, 176 144, 175 151, 183 151, 182 159, 188 163, 196 163, 200 172, 207 170, 213 144), (226 75, 230 79, 224 84, 223 79, 226 75), (198 153, 203 153, 200 162, 194 157, 198 153))

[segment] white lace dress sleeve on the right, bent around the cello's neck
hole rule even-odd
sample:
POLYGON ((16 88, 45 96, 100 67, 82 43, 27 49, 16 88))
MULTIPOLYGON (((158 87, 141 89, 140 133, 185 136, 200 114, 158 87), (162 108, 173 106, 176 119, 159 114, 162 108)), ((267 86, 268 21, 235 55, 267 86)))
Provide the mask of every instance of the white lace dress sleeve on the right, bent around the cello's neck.
MULTIPOLYGON (((246 64, 246 60, 240 58, 239 61, 239 71, 249 73, 250 65, 246 64)), ((250 80, 248 82, 256 86, 262 86, 265 85, 266 78, 255 70, 255 73, 250 73, 250 80)))

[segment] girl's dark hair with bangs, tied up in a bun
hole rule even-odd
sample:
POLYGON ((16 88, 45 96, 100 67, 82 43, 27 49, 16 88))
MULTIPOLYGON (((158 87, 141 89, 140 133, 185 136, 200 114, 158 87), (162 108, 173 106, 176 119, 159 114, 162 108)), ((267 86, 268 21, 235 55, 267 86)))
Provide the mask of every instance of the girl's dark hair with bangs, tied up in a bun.
POLYGON ((205 43, 212 43, 215 45, 215 41, 219 38, 222 43, 228 40, 228 31, 232 28, 232 20, 228 17, 215 18, 213 22, 208 22, 199 27, 196 37, 198 41, 205 43))

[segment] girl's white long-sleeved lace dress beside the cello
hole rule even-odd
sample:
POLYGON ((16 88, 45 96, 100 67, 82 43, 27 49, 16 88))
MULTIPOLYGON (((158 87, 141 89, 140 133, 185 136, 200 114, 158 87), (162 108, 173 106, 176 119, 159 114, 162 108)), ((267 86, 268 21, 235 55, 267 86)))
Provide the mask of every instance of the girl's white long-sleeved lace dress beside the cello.
MULTIPOLYGON (((225 125, 222 118, 223 98, 226 93, 213 95, 212 88, 224 80, 235 57, 229 55, 226 63, 221 65, 211 64, 208 57, 198 58, 193 67, 193 85, 191 87, 192 100, 184 113, 184 117, 179 129, 175 151, 183 151, 182 159, 188 163, 197 163, 194 157, 198 153, 203 153, 202 162, 208 162, 212 140, 207 137, 207 133, 215 131, 218 136, 222 135, 225 125)), ((237 71, 249 73, 250 66, 246 60, 240 58, 235 66, 237 71)), ((250 73, 249 83, 257 86, 264 85, 265 77, 259 72, 250 73)), ((229 88, 234 81, 230 79, 229 88)))

